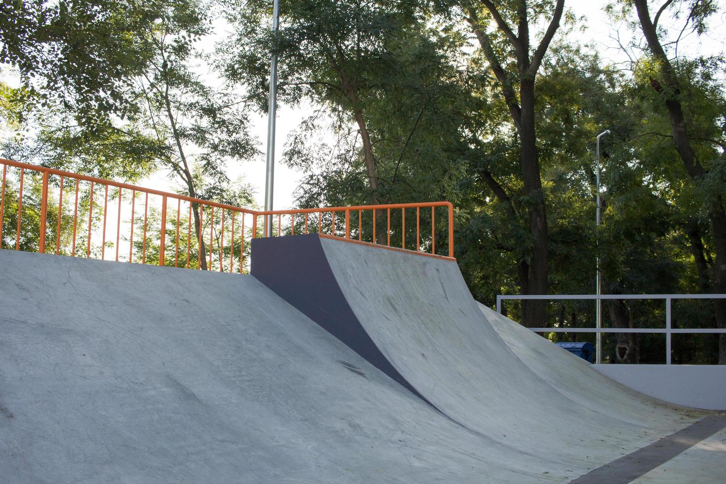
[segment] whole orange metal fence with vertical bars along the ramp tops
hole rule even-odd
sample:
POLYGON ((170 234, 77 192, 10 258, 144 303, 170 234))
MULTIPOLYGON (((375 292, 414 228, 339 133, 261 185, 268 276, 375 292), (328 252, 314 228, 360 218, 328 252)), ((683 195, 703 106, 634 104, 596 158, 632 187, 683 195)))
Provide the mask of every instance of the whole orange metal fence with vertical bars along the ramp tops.
POLYGON ((453 208, 449 202, 248 210, 12 160, 0 159, 0 165, 0 248, 15 245, 15 250, 45 253, 54 245, 56 254, 129 262, 140 258, 141 263, 160 266, 171 266, 173 253, 175 267, 242 272, 250 239, 264 235, 258 218, 272 216, 271 231, 274 234, 276 226, 278 236, 318 232, 387 247, 400 243, 401 249, 422 254, 454 256, 453 208), (68 208, 69 196, 72 210, 68 208), (446 211, 448 225, 441 222, 441 215, 437 218, 437 210, 446 211), (414 211, 415 230, 412 223, 407 229, 407 213, 409 220, 414 220, 414 211), (385 234, 381 233, 382 218, 386 218, 385 234), (115 233, 107 239, 109 221, 115 221, 115 233), (392 222, 396 223, 393 230, 392 222), (448 242, 445 254, 436 252, 439 241, 448 242), (121 245, 128 245, 128 257, 126 250, 120 252, 121 245), (115 255, 107 255, 107 248, 115 250, 115 255))

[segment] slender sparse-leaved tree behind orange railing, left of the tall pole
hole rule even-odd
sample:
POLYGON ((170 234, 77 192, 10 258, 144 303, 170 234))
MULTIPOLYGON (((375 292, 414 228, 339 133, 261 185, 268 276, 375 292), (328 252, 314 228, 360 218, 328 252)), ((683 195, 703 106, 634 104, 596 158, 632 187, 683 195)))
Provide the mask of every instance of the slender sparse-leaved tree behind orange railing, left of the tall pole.
MULTIPOLYGON (((204 8, 192 1, 160 17, 150 42, 150 67, 137 79, 142 108, 134 121, 156 139, 158 161, 179 177, 189 197, 248 205, 249 191, 241 199, 225 196, 232 192, 226 189, 230 181, 224 171, 225 159, 248 160, 257 154, 242 110, 245 99, 211 89, 188 65, 198 59, 195 41, 209 32, 204 8)), ((199 206, 192 204, 192 210, 200 233, 199 206)), ((205 250, 203 241, 200 250, 205 250)), ((206 269, 206 261, 201 262, 206 269)))

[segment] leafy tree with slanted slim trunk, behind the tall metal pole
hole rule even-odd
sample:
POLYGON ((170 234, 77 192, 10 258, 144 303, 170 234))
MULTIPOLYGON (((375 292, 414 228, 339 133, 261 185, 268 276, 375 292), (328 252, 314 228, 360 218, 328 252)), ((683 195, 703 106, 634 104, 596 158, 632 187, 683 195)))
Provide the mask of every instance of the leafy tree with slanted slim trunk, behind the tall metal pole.
MULTIPOLYGON (((266 25, 266 1, 235 3, 229 19, 236 25, 234 41, 222 50, 225 73, 232 81, 252 86, 266 105, 269 52, 280 58, 278 97, 298 102, 307 97, 334 112, 345 113, 357 126, 370 189, 370 200, 380 201, 380 173, 367 120, 370 102, 386 92, 396 71, 396 44, 406 30, 416 30, 413 2, 305 0, 284 2, 276 38, 266 25)), ((400 51, 397 51, 400 54, 400 51)))

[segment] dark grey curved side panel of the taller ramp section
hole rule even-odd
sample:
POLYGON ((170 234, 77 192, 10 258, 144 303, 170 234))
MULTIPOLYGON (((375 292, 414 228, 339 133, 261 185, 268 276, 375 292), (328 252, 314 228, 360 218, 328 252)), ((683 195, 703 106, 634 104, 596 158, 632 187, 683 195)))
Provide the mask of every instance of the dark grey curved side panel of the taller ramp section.
POLYGON ((250 273, 381 372, 426 403, 356 318, 327 262, 318 234, 252 239, 250 273))

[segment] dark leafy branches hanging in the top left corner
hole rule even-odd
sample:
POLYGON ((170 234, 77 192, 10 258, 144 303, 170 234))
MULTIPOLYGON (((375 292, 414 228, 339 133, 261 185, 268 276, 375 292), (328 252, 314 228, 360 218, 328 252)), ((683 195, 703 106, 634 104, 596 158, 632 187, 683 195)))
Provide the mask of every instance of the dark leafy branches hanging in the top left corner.
POLYGON ((123 115, 129 79, 144 65, 139 37, 159 2, 9 0, 0 4, 0 65, 11 65, 44 107, 76 118, 123 115))

